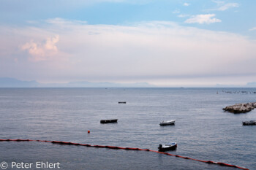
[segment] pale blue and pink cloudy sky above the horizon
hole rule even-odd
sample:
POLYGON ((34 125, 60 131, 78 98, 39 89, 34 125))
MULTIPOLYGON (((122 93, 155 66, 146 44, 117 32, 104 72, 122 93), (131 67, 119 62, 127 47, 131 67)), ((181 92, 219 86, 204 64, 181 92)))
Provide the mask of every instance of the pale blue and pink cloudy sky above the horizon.
POLYGON ((256 82, 256 1, 0 0, 0 77, 256 82))

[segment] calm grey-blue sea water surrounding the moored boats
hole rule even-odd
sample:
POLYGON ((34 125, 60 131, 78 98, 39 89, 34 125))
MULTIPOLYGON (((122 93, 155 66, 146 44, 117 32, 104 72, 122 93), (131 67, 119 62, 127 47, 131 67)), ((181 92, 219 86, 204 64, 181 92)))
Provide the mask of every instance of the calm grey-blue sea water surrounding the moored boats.
MULTIPOLYGON (((222 111, 227 105, 252 101, 255 93, 217 88, 0 88, 0 139, 151 150, 175 141, 178 148, 170 153, 256 169, 256 126, 241 124, 256 120, 256 110, 240 115, 222 111), (99 123, 112 118, 118 123, 99 123), (176 125, 159 126, 172 119, 176 125)), ((59 161, 61 169, 233 169, 154 152, 39 142, 0 142, 1 161, 59 161)))

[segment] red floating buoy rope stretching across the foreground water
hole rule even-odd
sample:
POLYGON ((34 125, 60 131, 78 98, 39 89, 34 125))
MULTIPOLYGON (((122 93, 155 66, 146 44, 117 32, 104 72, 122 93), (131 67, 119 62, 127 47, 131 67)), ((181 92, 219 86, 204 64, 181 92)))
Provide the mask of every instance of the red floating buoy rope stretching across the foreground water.
POLYGON ((185 157, 185 156, 173 155, 173 154, 170 154, 167 152, 159 152, 157 150, 140 149, 140 148, 133 148, 133 147, 113 147, 113 146, 103 146, 103 145, 80 144, 80 143, 73 143, 73 142, 31 140, 31 139, 0 139, 0 142, 32 142, 32 141, 34 141, 34 142, 49 142, 49 143, 53 143, 53 144, 80 145, 80 146, 85 146, 85 147, 104 147, 104 148, 115 149, 115 150, 144 150, 144 151, 157 152, 157 153, 163 154, 163 155, 170 155, 170 156, 175 156, 178 158, 190 159, 190 160, 204 162, 204 163, 212 163, 212 164, 217 164, 220 166, 230 166, 230 167, 234 167, 234 168, 238 168, 238 169, 249 170, 249 169, 243 168, 241 166, 230 165, 230 164, 222 163, 222 162, 203 161, 203 160, 198 160, 198 159, 189 158, 189 157, 185 157))

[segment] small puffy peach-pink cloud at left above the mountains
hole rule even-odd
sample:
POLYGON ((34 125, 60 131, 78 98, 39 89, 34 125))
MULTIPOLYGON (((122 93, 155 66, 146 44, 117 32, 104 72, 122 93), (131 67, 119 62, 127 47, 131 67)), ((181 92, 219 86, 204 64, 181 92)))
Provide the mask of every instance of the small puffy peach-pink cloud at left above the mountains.
POLYGON ((26 50, 31 55, 32 61, 46 61, 58 52, 57 42, 59 42, 59 35, 49 37, 45 42, 36 43, 31 40, 22 45, 21 50, 26 50))

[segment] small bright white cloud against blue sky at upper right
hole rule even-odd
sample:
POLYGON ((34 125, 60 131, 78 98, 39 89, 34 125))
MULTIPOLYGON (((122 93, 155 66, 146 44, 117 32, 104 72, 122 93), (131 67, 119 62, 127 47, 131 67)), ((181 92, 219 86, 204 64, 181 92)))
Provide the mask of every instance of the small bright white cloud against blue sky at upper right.
POLYGON ((222 22, 222 20, 219 20, 217 18, 213 18, 215 14, 206 14, 206 15, 194 15, 192 18, 189 18, 185 20, 185 23, 219 23, 222 22))

